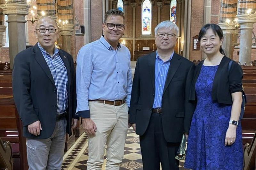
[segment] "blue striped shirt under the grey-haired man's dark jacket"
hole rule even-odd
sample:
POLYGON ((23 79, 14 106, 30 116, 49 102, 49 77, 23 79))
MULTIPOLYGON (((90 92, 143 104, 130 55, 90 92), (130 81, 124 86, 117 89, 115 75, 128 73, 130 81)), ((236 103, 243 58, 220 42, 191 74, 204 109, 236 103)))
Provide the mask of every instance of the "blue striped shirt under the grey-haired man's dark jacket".
MULTIPOLYGON (((174 53, 174 52, 173 52, 174 53)), ((168 69, 170 67, 170 60, 172 60, 173 53, 168 61, 163 61, 160 59, 156 51, 156 63, 155 63, 155 98, 153 103, 153 108, 162 107, 162 96, 164 91, 164 85, 168 69)))

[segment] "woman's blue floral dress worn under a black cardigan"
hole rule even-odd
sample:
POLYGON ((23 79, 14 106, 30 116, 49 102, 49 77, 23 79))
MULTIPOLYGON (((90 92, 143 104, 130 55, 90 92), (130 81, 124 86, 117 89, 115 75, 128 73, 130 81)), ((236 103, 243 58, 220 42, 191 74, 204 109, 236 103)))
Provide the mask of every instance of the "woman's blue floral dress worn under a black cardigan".
POLYGON ((185 168, 193 170, 243 169, 241 124, 236 141, 225 146, 231 105, 212 101, 212 83, 218 66, 202 66, 196 81, 197 105, 188 135, 185 168))

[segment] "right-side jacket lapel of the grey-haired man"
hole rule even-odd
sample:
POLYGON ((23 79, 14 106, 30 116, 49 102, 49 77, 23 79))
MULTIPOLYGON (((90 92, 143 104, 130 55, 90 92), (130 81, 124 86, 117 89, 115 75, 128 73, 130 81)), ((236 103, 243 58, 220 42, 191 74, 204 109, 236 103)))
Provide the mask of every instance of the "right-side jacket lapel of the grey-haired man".
POLYGON ((174 74, 176 73, 177 69, 180 66, 180 57, 178 57, 177 54, 174 53, 172 56, 172 60, 170 62, 171 63, 166 76, 163 94, 166 91, 167 87, 169 86, 170 82, 172 81, 172 77, 174 76, 174 74))

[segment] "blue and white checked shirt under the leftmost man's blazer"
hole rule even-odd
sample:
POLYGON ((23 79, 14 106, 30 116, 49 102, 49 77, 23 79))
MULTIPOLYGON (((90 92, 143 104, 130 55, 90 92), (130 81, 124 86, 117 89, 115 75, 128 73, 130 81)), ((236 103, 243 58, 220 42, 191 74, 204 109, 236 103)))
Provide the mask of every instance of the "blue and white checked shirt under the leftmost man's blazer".
POLYGON ((53 56, 51 56, 39 43, 37 45, 52 73, 57 89, 57 113, 63 113, 68 107, 68 74, 66 66, 60 58, 57 48, 54 48, 53 56))

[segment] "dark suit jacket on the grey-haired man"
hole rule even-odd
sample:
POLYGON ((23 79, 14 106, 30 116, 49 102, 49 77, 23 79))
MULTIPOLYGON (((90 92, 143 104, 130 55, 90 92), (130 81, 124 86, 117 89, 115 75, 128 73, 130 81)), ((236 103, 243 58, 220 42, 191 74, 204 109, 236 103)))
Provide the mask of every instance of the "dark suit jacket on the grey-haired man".
MULTIPOLYGON (((156 52, 137 60, 132 83, 129 108, 130 123, 136 123, 136 133, 147 130, 155 97, 156 52)), ((195 109, 188 101, 195 65, 174 53, 167 73, 162 98, 162 123, 167 142, 180 142, 182 133, 188 132, 195 109)))

